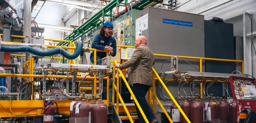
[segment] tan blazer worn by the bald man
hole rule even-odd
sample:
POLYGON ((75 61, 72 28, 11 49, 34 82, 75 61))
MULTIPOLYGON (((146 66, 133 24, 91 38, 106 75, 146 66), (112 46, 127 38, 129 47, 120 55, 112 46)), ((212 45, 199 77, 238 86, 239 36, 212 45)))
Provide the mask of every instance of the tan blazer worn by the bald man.
POLYGON ((128 72, 128 83, 140 83, 153 86, 152 66, 154 65, 154 56, 147 45, 141 45, 134 50, 131 59, 119 65, 119 68, 125 69, 131 67, 128 72))

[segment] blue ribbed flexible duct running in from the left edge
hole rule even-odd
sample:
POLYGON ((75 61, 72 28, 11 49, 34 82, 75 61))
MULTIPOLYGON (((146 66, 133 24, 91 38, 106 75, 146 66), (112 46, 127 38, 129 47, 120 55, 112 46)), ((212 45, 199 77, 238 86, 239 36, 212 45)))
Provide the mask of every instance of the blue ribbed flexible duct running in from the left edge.
POLYGON ((35 49, 35 48, 27 46, 27 45, 17 46, 17 47, 1 45, 0 51, 7 52, 7 53, 19 53, 19 52, 28 51, 31 54, 34 54, 36 56, 41 56, 41 57, 53 56, 55 54, 62 54, 62 56, 67 59, 75 59, 80 55, 82 47, 83 47, 82 42, 81 41, 77 42, 77 48, 75 49, 74 53, 72 53, 72 54, 69 54, 67 51, 65 51, 64 49, 59 48, 59 47, 52 48, 47 51, 43 51, 43 50, 38 50, 38 49, 35 49))

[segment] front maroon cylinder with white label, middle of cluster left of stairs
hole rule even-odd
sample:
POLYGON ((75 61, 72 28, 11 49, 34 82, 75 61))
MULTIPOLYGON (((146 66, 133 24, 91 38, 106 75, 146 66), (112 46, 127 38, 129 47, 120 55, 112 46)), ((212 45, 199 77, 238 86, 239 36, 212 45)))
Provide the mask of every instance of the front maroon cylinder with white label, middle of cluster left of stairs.
POLYGON ((84 99, 75 107, 75 123, 91 123, 91 107, 84 99))

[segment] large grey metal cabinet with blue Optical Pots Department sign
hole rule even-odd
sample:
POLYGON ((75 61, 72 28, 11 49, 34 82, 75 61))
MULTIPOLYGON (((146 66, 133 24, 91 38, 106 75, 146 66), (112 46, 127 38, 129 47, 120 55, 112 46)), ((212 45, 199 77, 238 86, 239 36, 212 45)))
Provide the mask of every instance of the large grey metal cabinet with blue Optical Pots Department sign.
MULTIPOLYGON (((177 12, 172 10, 158 9, 153 7, 147 7, 141 12, 136 14, 136 19, 148 14, 148 29, 143 30, 141 35, 147 38, 148 46, 154 54, 167 54, 167 55, 179 55, 179 56, 194 56, 205 57, 205 35, 204 35, 204 16, 191 13, 177 12), (174 20, 175 22, 188 22, 193 23, 193 26, 184 26, 178 24, 163 23, 163 19, 174 20)), ((156 64, 153 66, 156 72, 170 71, 171 63, 166 60, 171 60, 171 57, 154 57, 156 64), (162 66, 163 64, 163 66, 162 66), (162 69, 161 69, 162 66, 162 69)), ((199 60, 185 59, 193 64, 198 70, 199 60)), ((203 60, 203 72, 205 70, 203 60)), ((179 60, 179 71, 197 71, 193 66, 186 63, 183 60, 179 60)), ((163 76, 161 76, 163 77, 163 76)), ((166 77, 168 78, 168 77, 166 77)), ((156 81, 158 82, 158 81, 156 81)), ((164 81, 166 82, 166 81, 164 81)), ((178 96, 178 82, 166 83, 169 91, 173 96, 178 96)), ((158 83, 156 84, 158 85, 158 83)), ((199 94, 200 84, 196 84, 196 94, 199 94)), ((159 86, 161 87, 161 85, 159 86)), ((190 84, 184 85, 186 94, 190 93, 190 84)), ((156 91, 157 96, 161 95, 156 91)), ((163 94, 169 97, 166 91, 163 89, 163 94)), ((181 96, 185 96, 182 89, 180 90, 181 96)), ((161 95, 161 97, 163 97, 161 95)))

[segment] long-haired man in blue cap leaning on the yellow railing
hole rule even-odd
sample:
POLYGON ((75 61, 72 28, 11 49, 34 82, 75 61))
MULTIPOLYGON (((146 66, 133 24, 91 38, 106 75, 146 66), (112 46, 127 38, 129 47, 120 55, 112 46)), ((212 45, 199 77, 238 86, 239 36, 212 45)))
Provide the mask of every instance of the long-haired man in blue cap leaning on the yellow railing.
MULTIPOLYGON (((91 48, 97 50, 107 50, 110 52, 111 56, 116 56, 116 40, 112 37, 113 35, 113 23, 105 22, 104 25, 100 28, 100 34, 97 34, 91 44, 91 48)), ((101 65, 102 58, 107 56, 106 52, 97 51, 96 52, 96 61, 94 61, 94 52, 91 53, 90 60, 94 64, 101 65)), ((103 90, 106 88, 106 81, 103 82, 103 90)), ((107 99, 107 93, 103 92, 102 100, 107 99)))

